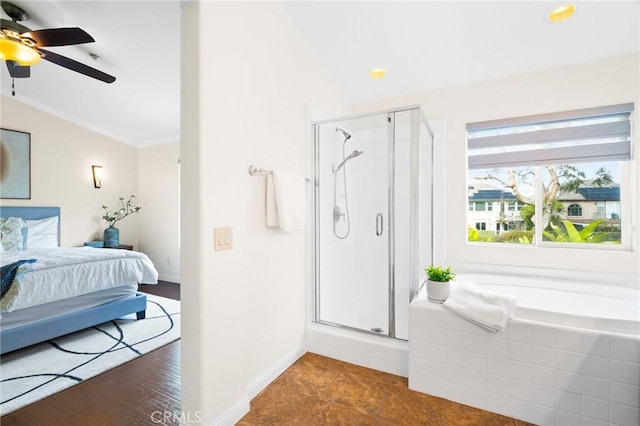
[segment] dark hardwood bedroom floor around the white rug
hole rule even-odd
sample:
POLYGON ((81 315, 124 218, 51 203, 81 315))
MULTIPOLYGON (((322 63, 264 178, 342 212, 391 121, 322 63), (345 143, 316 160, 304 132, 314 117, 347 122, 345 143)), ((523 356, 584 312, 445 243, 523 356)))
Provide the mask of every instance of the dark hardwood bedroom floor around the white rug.
MULTIPOLYGON (((140 291, 180 300, 178 284, 160 281, 140 291)), ((8 425, 178 425, 180 341, 2 416, 8 425)))

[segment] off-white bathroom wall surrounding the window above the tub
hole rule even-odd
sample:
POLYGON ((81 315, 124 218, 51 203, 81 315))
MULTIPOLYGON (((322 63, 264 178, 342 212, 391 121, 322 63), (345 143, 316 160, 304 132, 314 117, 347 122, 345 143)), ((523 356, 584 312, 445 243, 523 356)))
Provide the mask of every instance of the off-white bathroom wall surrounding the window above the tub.
MULTIPOLYGON (((496 265, 520 265, 572 269, 602 273, 640 274, 638 262, 638 188, 640 170, 637 153, 640 142, 633 139, 635 153, 635 177, 633 187, 636 204, 632 218, 633 251, 611 252, 602 250, 539 249, 536 247, 501 246, 487 250, 485 245, 466 242, 466 136, 469 122, 505 117, 564 111, 578 108, 635 102, 632 134, 640 134, 640 67, 639 55, 629 54, 598 61, 550 69, 546 71, 505 77, 418 93, 411 96, 361 104, 357 112, 420 103, 430 120, 446 123, 445 174, 440 184, 444 186, 446 199, 440 218, 444 222, 446 247, 436 239, 436 255, 445 262, 476 262, 496 265), (446 214, 444 214, 446 212, 446 214), (579 255, 576 255, 579 253, 579 255)), ((440 161, 436 158, 436 162, 440 161)), ((437 186, 437 185, 436 185, 437 186)), ((437 223, 436 227, 441 227, 437 223)))

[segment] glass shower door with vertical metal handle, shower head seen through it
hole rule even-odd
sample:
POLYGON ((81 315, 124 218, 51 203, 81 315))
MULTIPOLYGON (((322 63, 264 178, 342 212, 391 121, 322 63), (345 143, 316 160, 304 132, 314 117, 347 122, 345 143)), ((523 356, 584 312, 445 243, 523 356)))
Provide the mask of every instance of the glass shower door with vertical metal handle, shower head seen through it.
POLYGON ((389 114, 314 125, 318 322, 390 333, 391 129, 389 114))

